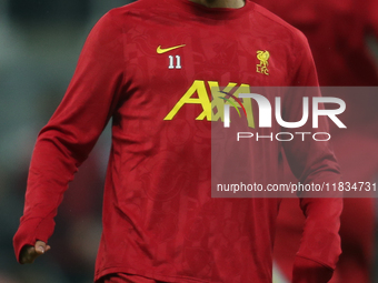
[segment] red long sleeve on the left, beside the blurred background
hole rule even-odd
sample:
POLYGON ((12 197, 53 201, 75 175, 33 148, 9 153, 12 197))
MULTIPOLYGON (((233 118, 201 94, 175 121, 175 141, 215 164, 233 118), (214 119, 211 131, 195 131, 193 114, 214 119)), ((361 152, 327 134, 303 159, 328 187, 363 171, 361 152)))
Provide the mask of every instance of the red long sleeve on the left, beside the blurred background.
POLYGON ((122 49, 122 29, 110 11, 90 32, 61 104, 39 133, 13 237, 18 260, 22 246, 51 236, 68 183, 117 109, 125 77, 122 49))

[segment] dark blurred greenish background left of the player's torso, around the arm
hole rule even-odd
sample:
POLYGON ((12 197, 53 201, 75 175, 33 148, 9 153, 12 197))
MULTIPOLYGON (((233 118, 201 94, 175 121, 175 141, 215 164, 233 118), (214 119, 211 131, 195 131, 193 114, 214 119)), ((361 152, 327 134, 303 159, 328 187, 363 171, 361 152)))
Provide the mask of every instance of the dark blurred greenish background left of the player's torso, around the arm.
POLYGON ((90 29, 108 10, 128 2, 0 0, 0 283, 93 281, 109 129, 64 195, 52 250, 21 266, 12 237, 38 132, 62 99, 90 29))

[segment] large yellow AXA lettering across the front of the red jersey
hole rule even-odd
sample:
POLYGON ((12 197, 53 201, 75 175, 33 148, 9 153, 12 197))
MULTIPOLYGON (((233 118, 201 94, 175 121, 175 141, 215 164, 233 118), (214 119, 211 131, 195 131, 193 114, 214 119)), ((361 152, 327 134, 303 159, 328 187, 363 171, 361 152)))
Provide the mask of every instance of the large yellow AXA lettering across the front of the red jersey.
POLYGON ((198 104, 202 108, 202 112, 196 120, 221 120, 223 122, 225 104, 231 104, 237 109, 239 115, 238 108, 240 108, 247 117, 248 127, 255 128, 252 102, 250 99, 238 99, 240 93, 250 93, 250 85, 245 83, 238 85, 238 83, 230 82, 226 88, 220 89, 217 81, 196 80, 163 120, 172 120, 182 108, 198 104))

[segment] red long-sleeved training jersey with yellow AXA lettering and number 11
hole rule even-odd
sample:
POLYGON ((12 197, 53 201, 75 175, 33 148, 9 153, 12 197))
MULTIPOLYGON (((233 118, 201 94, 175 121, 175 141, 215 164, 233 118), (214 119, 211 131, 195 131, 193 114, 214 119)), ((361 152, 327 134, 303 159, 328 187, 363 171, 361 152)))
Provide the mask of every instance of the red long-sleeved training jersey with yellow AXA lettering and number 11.
MULTIPOLYGON (((211 198, 207 102, 211 87, 231 82, 247 90, 317 85, 305 37, 251 1, 210 9, 141 0, 108 12, 38 137, 17 256, 23 245, 51 236, 69 181, 112 118, 94 279, 129 273, 166 282, 271 282, 280 200, 211 198), (270 52, 268 68, 258 51, 270 52)), ((298 109, 301 101, 287 104, 286 121, 298 109)), ((339 178, 328 143, 299 140, 285 151, 305 181, 339 178)), ((278 168, 278 151, 258 152, 267 168, 278 168)), ((301 208, 308 224, 298 256, 334 269, 341 200, 302 199, 301 208)))

